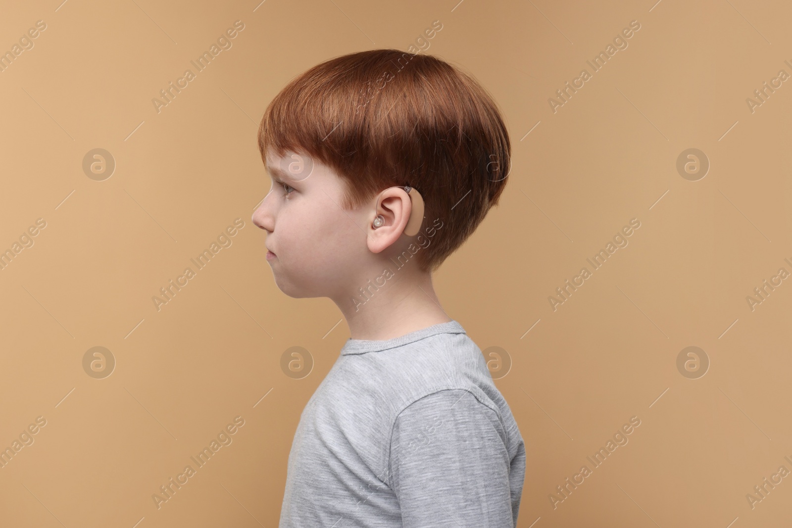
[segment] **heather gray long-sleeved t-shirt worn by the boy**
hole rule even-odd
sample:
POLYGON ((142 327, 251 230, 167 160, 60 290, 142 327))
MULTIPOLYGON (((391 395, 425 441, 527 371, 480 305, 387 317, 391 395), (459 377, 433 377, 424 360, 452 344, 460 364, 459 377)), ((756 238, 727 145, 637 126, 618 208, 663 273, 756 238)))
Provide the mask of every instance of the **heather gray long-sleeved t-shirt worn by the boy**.
POLYGON ((525 446, 459 322, 347 340, 308 401, 280 528, 514 528, 525 446))

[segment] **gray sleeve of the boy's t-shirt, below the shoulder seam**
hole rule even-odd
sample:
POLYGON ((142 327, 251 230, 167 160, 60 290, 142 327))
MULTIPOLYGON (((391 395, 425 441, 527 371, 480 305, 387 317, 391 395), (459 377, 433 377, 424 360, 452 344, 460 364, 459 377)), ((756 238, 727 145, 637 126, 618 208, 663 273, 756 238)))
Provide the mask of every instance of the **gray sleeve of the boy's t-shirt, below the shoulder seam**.
POLYGON ((514 528, 506 432, 463 389, 405 408, 390 439, 390 484, 405 528, 514 528))

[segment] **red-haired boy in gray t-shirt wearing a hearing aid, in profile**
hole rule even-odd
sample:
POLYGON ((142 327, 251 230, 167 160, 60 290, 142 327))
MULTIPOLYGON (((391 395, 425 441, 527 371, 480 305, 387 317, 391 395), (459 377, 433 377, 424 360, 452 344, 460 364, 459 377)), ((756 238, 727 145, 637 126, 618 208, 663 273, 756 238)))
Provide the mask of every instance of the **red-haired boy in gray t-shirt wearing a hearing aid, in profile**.
POLYGON ((300 416, 280 527, 516 526, 520 430, 432 287, 504 189, 496 104, 430 55, 361 51, 292 80, 258 145, 275 282, 351 332, 300 416))

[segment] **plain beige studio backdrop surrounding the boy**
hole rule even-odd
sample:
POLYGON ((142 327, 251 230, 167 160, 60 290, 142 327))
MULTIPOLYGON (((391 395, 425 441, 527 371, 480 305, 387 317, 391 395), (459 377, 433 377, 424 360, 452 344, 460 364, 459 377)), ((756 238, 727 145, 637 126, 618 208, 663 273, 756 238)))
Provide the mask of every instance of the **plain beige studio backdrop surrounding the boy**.
POLYGON ((257 122, 295 74, 406 50, 439 20, 427 52, 482 81, 512 138, 501 206, 436 288, 512 360, 497 386, 527 444, 518 526, 787 526, 792 478, 754 508, 746 494, 792 470, 792 285, 755 310, 746 296, 792 272, 792 87, 755 112, 745 100, 792 74, 792 6, 457 2, 6 2, 0 51, 47 29, 0 73, 0 250, 47 226, 0 271, 0 446, 47 425, 0 469, 0 525, 276 526, 299 414, 349 334, 328 299, 273 283, 250 221, 269 188, 257 122), (233 47, 156 112, 237 20, 233 47), (629 46, 552 112, 633 20, 629 46), (82 170, 94 148, 116 160, 109 179, 82 170), (676 170, 688 148, 709 158, 701 180, 676 170), (156 310, 234 218, 233 245, 156 310), (629 245, 552 310, 630 218, 629 245), (116 359, 107 378, 83 370, 94 346, 116 359), (292 346, 314 359, 305 378, 280 368, 292 346), (701 378, 677 370, 688 346, 710 359, 701 378), (152 494, 234 416, 233 443, 158 509, 152 494), (629 443, 554 509, 631 416, 629 443))

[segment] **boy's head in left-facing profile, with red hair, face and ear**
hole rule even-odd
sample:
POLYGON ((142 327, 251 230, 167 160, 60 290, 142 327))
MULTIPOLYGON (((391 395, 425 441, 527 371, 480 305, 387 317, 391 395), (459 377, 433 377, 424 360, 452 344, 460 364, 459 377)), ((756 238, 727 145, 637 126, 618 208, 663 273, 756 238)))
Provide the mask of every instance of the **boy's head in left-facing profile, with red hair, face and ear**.
POLYGON ((258 145, 273 185, 253 222, 268 232, 276 282, 293 297, 333 297, 342 293, 333 284, 360 279, 365 287, 383 268, 431 274, 497 205, 510 170, 489 93, 441 59, 395 49, 300 74, 268 105, 258 145), (406 185, 425 205, 413 237, 403 233, 406 185))

